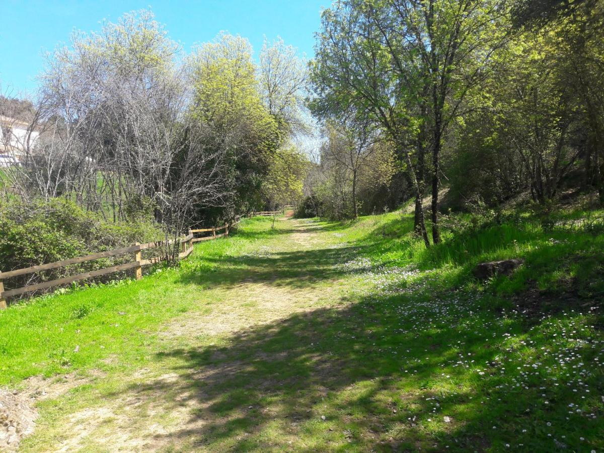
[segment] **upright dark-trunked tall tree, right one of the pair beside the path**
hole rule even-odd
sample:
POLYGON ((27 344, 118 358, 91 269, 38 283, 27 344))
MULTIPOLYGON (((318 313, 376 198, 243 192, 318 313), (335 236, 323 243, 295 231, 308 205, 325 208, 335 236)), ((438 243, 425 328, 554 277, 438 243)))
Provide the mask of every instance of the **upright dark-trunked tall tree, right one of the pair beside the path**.
POLYGON ((485 79, 493 54, 506 43, 509 8, 505 0, 385 0, 365 10, 429 133, 432 240, 438 243, 443 139, 467 93, 485 79))

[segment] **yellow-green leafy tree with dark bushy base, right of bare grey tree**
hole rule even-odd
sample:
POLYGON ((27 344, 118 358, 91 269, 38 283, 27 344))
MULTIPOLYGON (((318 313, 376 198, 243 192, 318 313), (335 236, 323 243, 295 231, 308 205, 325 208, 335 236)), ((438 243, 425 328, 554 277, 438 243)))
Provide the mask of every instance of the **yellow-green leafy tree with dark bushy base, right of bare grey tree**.
POLYGON ((225 219, 265 202, 295 199, 306 159, 284 140, 280 118, 262 101, 257 68, 247 39, 221 34, 194 52, 189 62, 195 101, 190 115, 211 128, 214 143, 228 145, 226 209, 198 216, 225 219))

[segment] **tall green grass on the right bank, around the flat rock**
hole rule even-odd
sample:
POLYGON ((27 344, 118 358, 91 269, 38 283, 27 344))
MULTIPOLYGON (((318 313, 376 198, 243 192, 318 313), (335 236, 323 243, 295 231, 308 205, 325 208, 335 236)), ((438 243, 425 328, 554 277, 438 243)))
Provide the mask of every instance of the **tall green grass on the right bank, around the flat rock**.
POLYGON ((594 225, 593 219, 602 218, 603 214, 563 211, 554 216, 573 219, 570 224, 544 222, 542 217, 529 214, 501 223, 491 221, 472 226, 472 222, 467 222, 469 226, 461 231, 444 231, 442 243, 429 248, 413 234, 413 214, 394 212, 361 217, 352 228, 345 228, 347 240, 362 244, 374 263, 440 270, 443 285, 474 284, 472 269, 478 263, 519 258, 525 260, 525 265, 518 272, 511 278, 494 278, 487 286, 509 294, 529 286, 559 289, 561 284, 572 280, 573 291, 586 291, 585 286, 590 286, 593 288, 587 292, 591 294, 600 291, 598 282, 604 280, 604 231, 590 226, 594 225), (585 222, 585 219, 592 220, 585 222))

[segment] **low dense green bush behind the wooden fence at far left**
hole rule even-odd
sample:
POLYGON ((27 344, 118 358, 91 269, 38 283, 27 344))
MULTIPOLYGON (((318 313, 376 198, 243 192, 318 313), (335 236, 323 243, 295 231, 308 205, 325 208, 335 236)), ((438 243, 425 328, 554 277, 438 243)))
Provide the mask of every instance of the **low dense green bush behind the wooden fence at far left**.
MULTIPOLYGON (((161 230, 149 219, 109 223, 100 214, 84 211, 66 199, 31 203, 11 201, 0 207, 0 271, 52 263, 161 237, 161 230)), ((132 261, 132 255, 108 257, 21 275, 4 283, 7 289, 19 288, 129 261, 132 261)), ((116 275, 103 277, 98 280, 115 279, 116 275)))

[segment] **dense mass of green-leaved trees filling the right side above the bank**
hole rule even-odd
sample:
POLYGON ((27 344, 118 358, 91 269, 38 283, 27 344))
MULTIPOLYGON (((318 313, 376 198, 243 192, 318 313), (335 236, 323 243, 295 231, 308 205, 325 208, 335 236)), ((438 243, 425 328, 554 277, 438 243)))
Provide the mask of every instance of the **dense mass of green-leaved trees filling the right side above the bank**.
POLYGON ((310 106, 324 121, 358 112, 390 138, 406 181, 382 199, 421 198, 431 181, 435 243, 442 182, 455 208, 546 206, 571 190, 601 203, 603 11, 598 0, 336 2, 322 14, 310 106))

